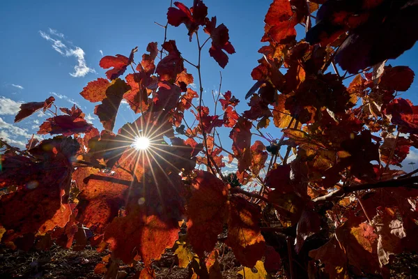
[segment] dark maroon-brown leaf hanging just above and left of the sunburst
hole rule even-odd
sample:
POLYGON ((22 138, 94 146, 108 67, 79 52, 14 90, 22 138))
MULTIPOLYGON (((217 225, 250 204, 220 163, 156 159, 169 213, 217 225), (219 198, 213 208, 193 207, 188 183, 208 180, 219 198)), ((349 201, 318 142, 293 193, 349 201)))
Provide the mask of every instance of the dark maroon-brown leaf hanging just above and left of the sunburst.
POLYGON ((128 90, 130 90, 130 86, 123 80, 117 79, 107 88, 106 98, 102 100, 102 103, 95 106, 94 114, 99 117, 104 129, 113 130, 123 94, 128 90))

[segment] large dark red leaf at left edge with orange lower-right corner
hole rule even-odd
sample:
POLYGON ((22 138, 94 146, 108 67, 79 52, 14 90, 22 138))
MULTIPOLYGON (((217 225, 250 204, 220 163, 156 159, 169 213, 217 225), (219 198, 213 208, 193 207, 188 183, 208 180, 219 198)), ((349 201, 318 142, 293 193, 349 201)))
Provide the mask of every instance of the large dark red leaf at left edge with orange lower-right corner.
POLYGON ((76 140, 55 137, 31 149, 36 162, 11 153, 2 156, 0 186, 16 187, 0 199, 0 225, 13 229, 10 239, 65 226, 71 214, 70 162, 78 149, 76 140))

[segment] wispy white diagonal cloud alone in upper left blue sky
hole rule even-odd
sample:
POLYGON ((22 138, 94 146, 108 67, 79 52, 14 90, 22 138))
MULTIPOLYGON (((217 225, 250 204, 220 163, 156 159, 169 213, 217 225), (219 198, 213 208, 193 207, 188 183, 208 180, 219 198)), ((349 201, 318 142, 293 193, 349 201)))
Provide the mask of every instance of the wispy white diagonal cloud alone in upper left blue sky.
POLYGON ((74 56, 75 59, 77 59, 78 64, 74 66, 74 73, 70 73, 72 77, 84 77, 88 73, 96 73, 96 71, 93 68, 88 68, 86 64, 86 59, 84 58, 85 53, 81 47, 68 47, 67 45, 65 45, 71 43, 65 40, 65 36, 63 35, 63 33, 59 33, 58 31, 51 28, 49 28, 49 34, 43 31, 39 31, 39 33, 42 38, 52 43, 52 48, 56 52, 59 52, 59 54, 66 57, 74 56), (65 40, 65 43, 63 43, 62 40, 65 40))

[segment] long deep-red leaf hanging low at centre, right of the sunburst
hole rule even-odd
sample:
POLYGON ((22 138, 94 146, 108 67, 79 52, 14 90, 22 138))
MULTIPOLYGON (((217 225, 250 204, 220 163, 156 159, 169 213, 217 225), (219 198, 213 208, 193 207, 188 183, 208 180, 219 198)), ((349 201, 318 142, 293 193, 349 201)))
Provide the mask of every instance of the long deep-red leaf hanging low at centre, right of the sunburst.
POLYGON ((228 197, 224 183, 209 172, 199 171, 187 201, 187 235, 199 256, 215 248, 222 232, 228 197))

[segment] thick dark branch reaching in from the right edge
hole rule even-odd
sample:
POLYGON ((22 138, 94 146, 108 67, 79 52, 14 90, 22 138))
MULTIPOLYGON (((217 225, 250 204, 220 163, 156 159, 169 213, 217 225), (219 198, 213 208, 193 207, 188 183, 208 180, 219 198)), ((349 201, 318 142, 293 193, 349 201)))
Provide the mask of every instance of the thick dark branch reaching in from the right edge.
POLYGON ((313 199, 312 201, 313 202, 325 202, 325 201, 341 199, 342 197, 346 196, 348 193, 353 193, 355 191, 360 191, 360 190, 370 190, 370 189, 388 188, 388 187, 406 187, 406 188, 418 189, 418 185, 414 183, 418 183, 418 176, 412 176, 412 177, 408 177, 405 179, 391 179, 387 181, 380 181, 377 183, 366 183, 366 184, 359 184, 359 185, 354 185, 354 186, 341 187, 339 190, 335 190, 334 192, 328 193, 327 195, 317 197, 316 199, 313 199))

